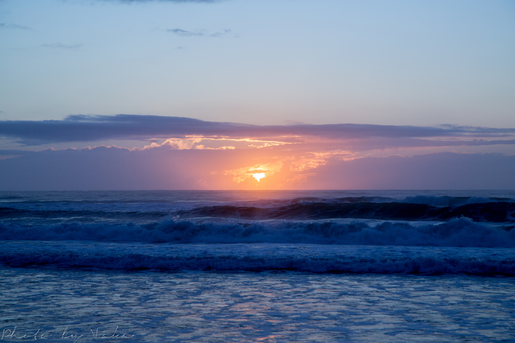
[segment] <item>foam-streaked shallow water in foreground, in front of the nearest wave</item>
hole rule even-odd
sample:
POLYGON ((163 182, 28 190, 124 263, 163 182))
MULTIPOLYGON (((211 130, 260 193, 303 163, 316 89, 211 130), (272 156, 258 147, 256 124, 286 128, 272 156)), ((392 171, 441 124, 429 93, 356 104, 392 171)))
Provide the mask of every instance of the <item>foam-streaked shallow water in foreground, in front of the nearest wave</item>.
POLYGON ((513 278, 4 268, 0 279, 0 329, 50 340, 66 327, 78 342, 95 330, 168 342, 515 339, 513 278))

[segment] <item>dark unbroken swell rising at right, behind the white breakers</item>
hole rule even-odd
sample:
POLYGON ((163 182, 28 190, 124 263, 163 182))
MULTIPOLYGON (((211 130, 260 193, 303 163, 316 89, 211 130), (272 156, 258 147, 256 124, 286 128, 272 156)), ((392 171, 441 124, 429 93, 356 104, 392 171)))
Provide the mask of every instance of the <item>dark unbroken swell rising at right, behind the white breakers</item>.
POLYGON ((359 218, 379 220, 448 220, 467 217, 476 221, 515 222, 515 202, 483 202, 432 206, 405 202, 319 202, 299 200, 279 207, 209 206, 178 211, 185 217, 222 217, 248 220, 359 218))

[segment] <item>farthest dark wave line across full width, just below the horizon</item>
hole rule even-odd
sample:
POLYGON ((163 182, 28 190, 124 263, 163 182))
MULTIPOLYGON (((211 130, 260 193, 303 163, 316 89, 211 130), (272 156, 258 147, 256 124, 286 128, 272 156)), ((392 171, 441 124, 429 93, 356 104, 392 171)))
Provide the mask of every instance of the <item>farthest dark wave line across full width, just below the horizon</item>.
MULTIPOLYGON (((134 200, 133 200, 134 201, 134 200)), ((232 202, 185 202, 169 204, 75 202, 18 203, 0 207, 0 220, 22 224, 58 222, 151 222, 166 217, 217 217, 245 220, 319 220, 337 218, 444 221, 467 217, 474 221, 515 224, 515 202, 507 198, 414 196, 303 197, 232 202), (502 200, 502 201, 501 201, 502 200), (509 201, 508 201, 509 200, 509 201), (215 205, 213 205, 215 204, 215 205)))

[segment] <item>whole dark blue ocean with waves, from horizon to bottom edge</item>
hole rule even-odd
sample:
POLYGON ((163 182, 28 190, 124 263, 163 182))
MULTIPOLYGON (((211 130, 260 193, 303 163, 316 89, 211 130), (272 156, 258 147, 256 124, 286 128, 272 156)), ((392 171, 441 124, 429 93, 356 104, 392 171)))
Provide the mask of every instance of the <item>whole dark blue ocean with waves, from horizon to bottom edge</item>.
POLYGON ((515 191, 0 192, 5 341, 515 341, 515 191))

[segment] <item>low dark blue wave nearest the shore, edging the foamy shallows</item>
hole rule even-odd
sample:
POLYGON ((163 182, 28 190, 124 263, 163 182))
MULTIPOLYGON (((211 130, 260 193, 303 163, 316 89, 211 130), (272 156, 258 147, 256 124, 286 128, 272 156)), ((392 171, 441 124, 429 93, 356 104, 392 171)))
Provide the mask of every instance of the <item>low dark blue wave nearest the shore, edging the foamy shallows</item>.
POLYGON ((119 254, 91 256, 76 253, 0 254, 0 263, 10 267, 49 266, 119 270, 292 270, 316 273, 415 273, 479 274, 515 276, 515 260, 457 259, 435 257, 316 258, 310 256, 192 255, 156 256, 119 254))

